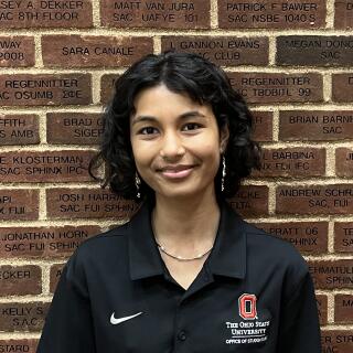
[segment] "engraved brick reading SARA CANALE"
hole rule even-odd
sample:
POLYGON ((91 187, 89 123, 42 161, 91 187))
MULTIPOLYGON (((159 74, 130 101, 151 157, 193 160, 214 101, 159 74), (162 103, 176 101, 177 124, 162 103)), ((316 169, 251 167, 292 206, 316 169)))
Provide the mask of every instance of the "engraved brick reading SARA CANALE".
POLYGON ((50 67, 128 66, 153 53, 147 36, 44 35, 43 63, 50 67))

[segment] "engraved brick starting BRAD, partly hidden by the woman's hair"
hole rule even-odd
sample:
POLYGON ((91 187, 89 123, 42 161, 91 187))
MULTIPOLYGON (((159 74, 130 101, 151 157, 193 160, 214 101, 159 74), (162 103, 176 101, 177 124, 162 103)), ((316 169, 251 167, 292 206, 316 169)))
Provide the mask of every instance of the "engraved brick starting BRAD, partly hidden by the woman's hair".
POLYGON ((101 133, 101 114, 49 113, 46 115, 49 143, 97 145, 101 133))

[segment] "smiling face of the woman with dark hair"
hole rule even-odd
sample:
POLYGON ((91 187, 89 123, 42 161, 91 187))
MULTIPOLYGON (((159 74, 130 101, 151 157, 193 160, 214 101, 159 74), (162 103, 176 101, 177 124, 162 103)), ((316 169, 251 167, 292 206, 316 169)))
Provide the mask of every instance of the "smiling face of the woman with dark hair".
POLYGON ((156 196, 185 197, 214 192, 228 130, 220 137, 212 107, 159 85, 141 90, 135 108, 130 117, 135 162, 156 196))

